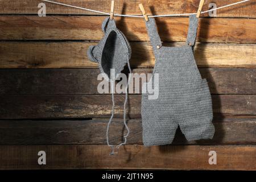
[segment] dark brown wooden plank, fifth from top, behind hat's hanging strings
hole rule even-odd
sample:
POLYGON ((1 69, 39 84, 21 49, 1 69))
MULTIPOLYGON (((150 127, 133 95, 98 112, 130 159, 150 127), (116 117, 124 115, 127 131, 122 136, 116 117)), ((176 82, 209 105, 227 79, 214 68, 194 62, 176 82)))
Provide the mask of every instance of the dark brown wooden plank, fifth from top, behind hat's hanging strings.
MULTIPOLYGON (((123 117, 123 95, 115 96, 115 117, 123 117)), ((214 117, 256 117, 256 95, 213 95, 214 117)), ((111 95, 0 96, 0 119, 109 118, 111 95)), ((127 117, 141 118, 141 95, 130 95, 127 117)))

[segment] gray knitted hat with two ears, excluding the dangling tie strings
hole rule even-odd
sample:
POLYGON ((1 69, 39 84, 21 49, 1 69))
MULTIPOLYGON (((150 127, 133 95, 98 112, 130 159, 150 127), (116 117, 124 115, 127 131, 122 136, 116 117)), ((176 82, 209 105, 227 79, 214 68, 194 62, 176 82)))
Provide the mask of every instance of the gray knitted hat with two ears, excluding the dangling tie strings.
POLYGON ((110 70, 114 69, 115 77, 125 67, 131 57, 131 47, 125 35, 119 31, 114 19, 109 17, 102 23, 104 38, 96 46, 90 46, 88 57, 91 61, 98 63, 101 73, 106 73, 110 78, 110 70))

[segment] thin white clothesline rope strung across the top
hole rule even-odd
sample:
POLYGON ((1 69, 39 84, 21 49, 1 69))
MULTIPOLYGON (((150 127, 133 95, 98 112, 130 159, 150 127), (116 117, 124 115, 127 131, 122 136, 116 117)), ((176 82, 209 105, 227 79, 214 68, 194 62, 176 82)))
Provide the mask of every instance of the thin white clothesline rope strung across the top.
MULTIPOLYGON (((56 4, 56 5, 61 5, 61 6, 73 7, 73 8, 75 8, 75 9, 91 11, 91 12, 94 12, 94 13, 100 13, 100 14, 104 14, 104 15, 110 15, 110 13, 105 13, 105 12, 102 12, 102 11, 86 9, 86 8, 84 8, 84 7, 79 7, 79 6, 67 5, 67 4, 60 3, 60 2, 49 1, 49 0, 41 0, 41 1, 49 2, 49 3, 56 4)), ((230 5, 225 5, 225 6, 217 7, 217 8, 208 10, 208 11, 203 11, 203 12, 201 12, 201 14, 203 14, 203 13, 208 13, 208 12, 213 11, 213 10, 219 10, 219 9, 222 9, 222 8, 225 8, 225 7, 229 7, 229 6, 238 5, 238 4, 240 4, 240 3, 247 2, 247 1, 250 1, 250 0, 244 0, 244 1, 236 2, 236 3, 232 3, 232 4, 230 4, 230 5)), ((168 14, 168 15, 151 15, 151 16, 148 16, 148 17, 155 18, 155 17, 183 16, 183 15, 193 15, 193 14, 196 14, 196 13, 168 14)), ((126 17, 135 17, 135 18, 144 18, 142 15, 121 15, 121 14, 114 14, 114 16, 126 16, 126 17)))

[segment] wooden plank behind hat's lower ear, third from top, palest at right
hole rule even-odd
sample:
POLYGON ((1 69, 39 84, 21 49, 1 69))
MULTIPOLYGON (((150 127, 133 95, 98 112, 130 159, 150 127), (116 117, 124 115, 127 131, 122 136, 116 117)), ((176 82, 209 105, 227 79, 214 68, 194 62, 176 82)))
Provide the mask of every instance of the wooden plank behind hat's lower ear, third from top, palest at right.
MULTIPOLYGON (((98 68, 86 55, 93 42, 1 42, 0 68, 98 68)), ((131 66, 154 67, 149 42, 131 42, 131 66)), ((185 43, 164 43, 182 46, 185 43)), ((256 44, 197 43, 199 67, 256 68, 256 44)))

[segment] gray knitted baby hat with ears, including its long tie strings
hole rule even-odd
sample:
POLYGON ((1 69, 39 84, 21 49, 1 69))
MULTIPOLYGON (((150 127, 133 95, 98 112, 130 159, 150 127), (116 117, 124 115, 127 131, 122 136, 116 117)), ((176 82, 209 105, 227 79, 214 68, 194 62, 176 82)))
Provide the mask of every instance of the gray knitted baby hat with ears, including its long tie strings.
MULTIPOLYGON (((114 117, 114 83, 115 79, 118 77, 119 73, 123 70, 126 63, 131 73, 129 60, 131 58, 131 47, 126 39, 125 35, 117 29, 115 25, 114 19, 110 19, 109 17, 104 19, 102 23, 102 31, 104 32, 104 38, 100 40, 100 42, 96 46, 90 46, 87 52, 89 59, 93 62, 98 63, 101 73, 105 73, 110 81, 110 88, 112 90, 112 115, 108 122, 108 127, 106 130, 106 140, 109 147, 112 147, 111 155, 115 154, 114 146, 109 144, 109 127, 114 117), (114 75, 111 72, 114 69, 114 75), (110 74, 111 73, 111 74, 110 74)), ((128 98, 128 86, 130 82, 130 76, 125 87, 125 102, 123 104, 123 124, 126 127, 127 134, 123 137, 125 141, 121 144, 118 144, 117 149, 126 144, 127 137, 130 133, 130 130, 126 124, 126 103, 128 98)))

